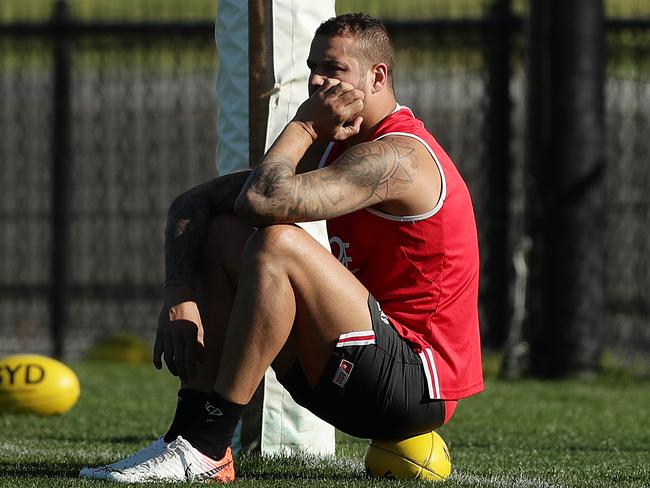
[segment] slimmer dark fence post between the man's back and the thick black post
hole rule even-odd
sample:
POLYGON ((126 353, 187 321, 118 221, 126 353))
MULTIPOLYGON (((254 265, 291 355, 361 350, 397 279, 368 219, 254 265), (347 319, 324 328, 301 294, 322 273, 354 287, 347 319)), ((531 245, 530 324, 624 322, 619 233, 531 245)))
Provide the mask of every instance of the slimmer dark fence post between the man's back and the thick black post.
POLYGON ((488 111, 486 120, 488 250, 485 293, 488 322, 485 342, 503 346, 510 321, 509 204, 510 204, 510 39, 511 0, 493 0, 487 25, 486 61, 488 111))

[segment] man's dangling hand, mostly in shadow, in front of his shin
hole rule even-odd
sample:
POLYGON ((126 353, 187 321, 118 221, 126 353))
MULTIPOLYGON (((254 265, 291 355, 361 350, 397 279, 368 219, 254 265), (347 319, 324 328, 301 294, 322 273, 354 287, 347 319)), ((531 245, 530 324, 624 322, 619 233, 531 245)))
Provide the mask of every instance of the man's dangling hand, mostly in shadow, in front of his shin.
POLYGON ((196 376, 197 363, 203 356, 203 325, 196 302, 166 300, 158 317, 153 364, 167 369, 174 376, 188 379, 196 376))

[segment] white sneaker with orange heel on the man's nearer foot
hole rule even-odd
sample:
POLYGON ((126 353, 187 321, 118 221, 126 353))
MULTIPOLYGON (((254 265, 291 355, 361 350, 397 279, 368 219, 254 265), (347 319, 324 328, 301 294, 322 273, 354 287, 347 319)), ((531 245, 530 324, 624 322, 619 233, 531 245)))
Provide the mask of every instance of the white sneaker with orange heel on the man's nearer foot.
POLYGON ((107 480, 120 483, 150 481, 212 481, 229 483, 235 480, 232 451, 215 461, 178 436, 158 456, 130 468, 111 471, 107 480))

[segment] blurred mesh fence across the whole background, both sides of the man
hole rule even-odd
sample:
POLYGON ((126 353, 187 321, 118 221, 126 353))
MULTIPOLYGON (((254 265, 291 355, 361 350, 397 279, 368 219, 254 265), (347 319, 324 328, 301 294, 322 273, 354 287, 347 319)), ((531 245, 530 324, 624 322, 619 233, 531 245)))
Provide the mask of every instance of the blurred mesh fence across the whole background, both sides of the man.
MULTIPOLYGON (((50 354, 58 348, 74 357, 119 331, 152 339, 161 304, 167 207, 176 194, 215 174, 214 3, 181 3, 73 0, 64 31, 49 20, 54 2, 0 5, 5 25, 0 35, 0 354, 50 354), (61 82, 57 49, 69 60, 63 221, 56 220, 53 207, 60 198, 53 172, 58 147, 53 121, 61 110, 54 97, 61 82), (64 222, 64 228, 56 222, 64 222), (61 246, 67 271, 56 281, 61 246), (65 301, 61 329, 53 327, 57 297, 65 301)), ((339 0, 337 8, 364 9, 387 21, 396 46, 398 100, 425 121, 473 194, 483 267, 483 334, 490 342, 491 333, 507 329, 512 312, 506 307, 500 316, 490 314, 494 295, 488 290, 499 291, 503 286, 495 283, 506 283, 501 296, 509 296, 512 250, 523 232, 526 42, 517 16, 525 15, 525 2, 515 2, 515 17, 505 24, 490 18, 487 1, 367 1, 367 8, 361 3, 339 0), (414 11, 421 18, 410 22, 414 11), (500 136, 507 138, 504 194, 495 191, 489 176, 491 129, 498 120, 489 51, 495 29, 509 40, 506 98, 499 102, 507 111, 500 136), (506 199, 504 221, 491 210, 500 198, 506 199), (501 246, 494 244, 494 226, 502 224, 505 265, 494 252, 501 246)), ((604 339, 621 356, 645 358, 650 350, 649 35, 650 24, 643 23, 608 31, 603 229, 604 339)), ((502 335, 492 342, 498 344, 502 335)))

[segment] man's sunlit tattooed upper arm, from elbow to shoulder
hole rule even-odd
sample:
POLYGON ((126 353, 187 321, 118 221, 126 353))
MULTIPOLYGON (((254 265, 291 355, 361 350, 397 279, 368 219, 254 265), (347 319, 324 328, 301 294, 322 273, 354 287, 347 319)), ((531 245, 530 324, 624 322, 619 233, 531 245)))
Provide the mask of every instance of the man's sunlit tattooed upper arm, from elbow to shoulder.
POLYGON ((332 165, 300 175, 290 160, 267 158, 242 193, 241 213, 256 225, 301 222, 396 198, 410 189, 417 171, 411 144, 395 138, 358 144, 332 165))

